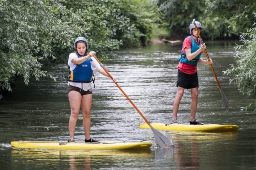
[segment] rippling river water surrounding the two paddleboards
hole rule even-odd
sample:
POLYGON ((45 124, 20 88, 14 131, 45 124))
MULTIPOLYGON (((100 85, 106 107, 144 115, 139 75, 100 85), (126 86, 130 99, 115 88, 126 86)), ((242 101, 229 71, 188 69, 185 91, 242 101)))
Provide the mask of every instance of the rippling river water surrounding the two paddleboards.
MULTIPOLYGON (((169 123, 176 94, 177 58, 182 44, 152 45, 115 52, 104 61, 134 104, 150 122, 169 123)), ((56 141, 69 138, 70 106, 65 75, 67 65, 46 68, 57 81, 31 79, 15 83, 12 93, 0 100, 1 170, 255 170, 256 117, 240 109, 250 99, 229 85, 223 76, 234 63, 234 42, 209 42, 207 50, 229 100, 225 111, 221 94, 208 65, 199 65, 199 104, 197 118, 204 123, 235 124, 238 132, 160 131, 174 144, 159 149, 151 130, 139 129, 143 119, 108 78, 98 76, 93 89, 91 135, 107 141, 149 141, 143 151, 60 151, 14 149, 13 140, 56 141)), ((202 57, 205 57, 203 55, 202 57)), ((185 91, 178 120, 188 123, 190 91, 185 91)), ((80 115, 76 140, 84 140, 80 115)))

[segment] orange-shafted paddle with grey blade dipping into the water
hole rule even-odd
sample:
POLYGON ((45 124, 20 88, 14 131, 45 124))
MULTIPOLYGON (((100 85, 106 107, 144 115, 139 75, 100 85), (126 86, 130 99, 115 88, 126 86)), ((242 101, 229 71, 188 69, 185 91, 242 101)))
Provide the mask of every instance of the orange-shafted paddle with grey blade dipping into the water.
MULTIPOLYGON (((105 70, 105 72, 108 74, 108 76, 114 81, 114 78, 110 75, 110 73, 108 72, 108 70, 105 68, 105 66, 100 63, 100 60, 94 56, 94 58, 98 61, 98 63, 100 64, 100 66, 105 70)), ((165 135, 163 135, 162 133, 160 133, 159 131, 157 131, 155 128, 153 128, 149 121, 142 115, 142 112, 136 107, 136 105, 134 105, 134 103, 130 100, 130 98, 128 97, 128 95, 123 91, 123 89, 119 86, 119 84, 117 82, 114 82, 115 85, 120 89, 120 91, 126 96, 126 98, 128 99, 128 101, 131 103, 131 105, 133 105, 133 107, 137 110, 137 112, 141 115, 141 117, 145 120, 145 122, 150 126, 151 130, 153 131, 153 134, 155 136, 156 139, 156 144, 160 147, 160 148, 166 148, 166 147, 170 147, 173 144, 170 142, 169 139, 167 139, 167 137, 165 135)))

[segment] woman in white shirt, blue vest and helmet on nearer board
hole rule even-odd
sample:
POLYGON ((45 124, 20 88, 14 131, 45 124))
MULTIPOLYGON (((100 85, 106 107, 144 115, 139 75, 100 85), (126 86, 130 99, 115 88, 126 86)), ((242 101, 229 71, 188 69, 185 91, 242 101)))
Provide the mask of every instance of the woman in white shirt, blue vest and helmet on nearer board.
MULTIPOLYGON (((94 58, 96 52, 88 51, 88 41, 84 37, 78 37, 74 42, 75 51, 69 55, 68 65, 70 66, 69 101, 71 116, 69 120, 70 139, 68 142, 75 142, 75 127, 79 116, 80 107, 83 115, 83 126, 85 131, 85 143, 100 143, 99 140, 90 136, 91 105, 92 105, 92 84, 93 74, 101 73, 109 77, 94 58)), ((114 82, 116 80, 114 79, 114 82)))

